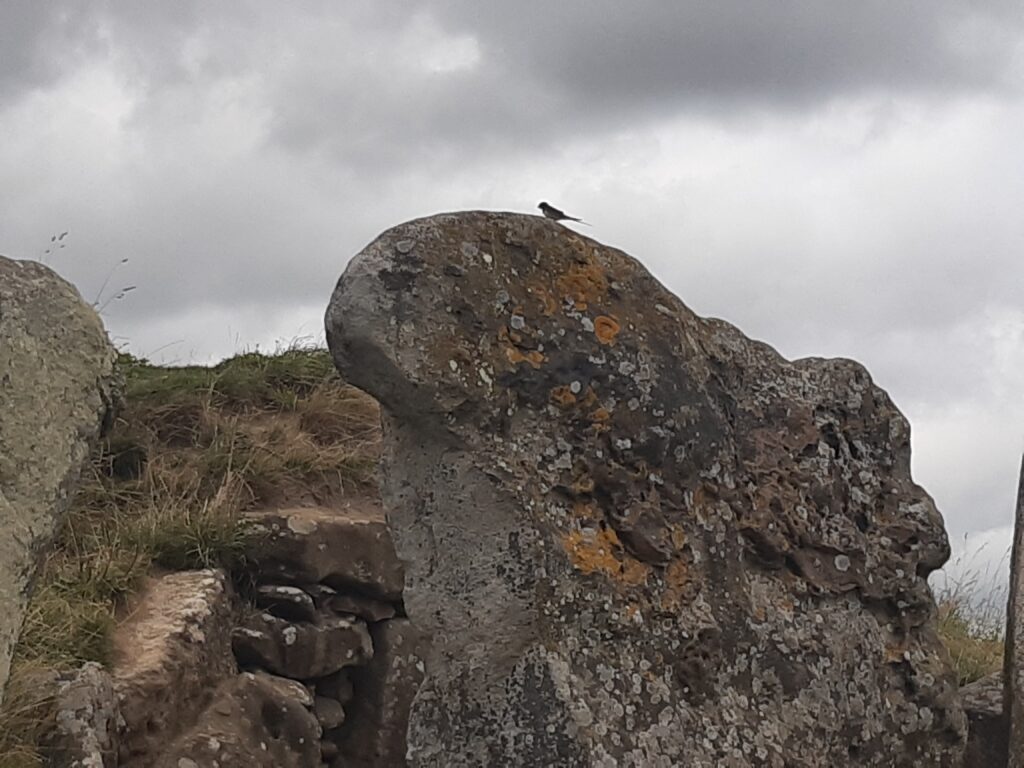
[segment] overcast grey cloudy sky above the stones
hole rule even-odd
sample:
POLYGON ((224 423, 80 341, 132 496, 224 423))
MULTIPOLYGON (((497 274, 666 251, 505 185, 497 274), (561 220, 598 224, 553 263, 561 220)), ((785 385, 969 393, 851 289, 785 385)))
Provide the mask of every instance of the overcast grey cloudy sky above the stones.
POLYGON ((322 337, 381 230, 548 200, 866 365, 975 566, 1024 450, 1022 136, 1019 0, 0 1, 0 253, 136 354, 322 337))

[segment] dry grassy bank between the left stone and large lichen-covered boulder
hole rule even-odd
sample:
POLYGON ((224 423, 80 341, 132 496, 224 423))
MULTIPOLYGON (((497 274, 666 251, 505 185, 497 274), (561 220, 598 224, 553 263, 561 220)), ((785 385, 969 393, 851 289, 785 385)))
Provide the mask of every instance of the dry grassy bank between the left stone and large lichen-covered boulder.
POLYGON ((121 369, 125 407, 41 566, 15 648, 0 768, 42 764, 45 707, 19 681, 109 663, 119 611, 147 573, 238 572, 251 546, 246 510, 373 493, 377 404, 338 378, 326 350, 249 353, 213 368, 124 355, 121 369))

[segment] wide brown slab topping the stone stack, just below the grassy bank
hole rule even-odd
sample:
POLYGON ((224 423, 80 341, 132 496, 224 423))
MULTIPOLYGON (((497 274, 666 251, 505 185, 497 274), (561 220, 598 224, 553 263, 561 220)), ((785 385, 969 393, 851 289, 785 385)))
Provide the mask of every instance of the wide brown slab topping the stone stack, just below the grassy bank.
POLYGON ((380 503, 360 500, 330 509, 295 507, 250 515, 262 532, 249 553, 263 582, 356 589, 383 600, 401 597, 401 563, 380 503))

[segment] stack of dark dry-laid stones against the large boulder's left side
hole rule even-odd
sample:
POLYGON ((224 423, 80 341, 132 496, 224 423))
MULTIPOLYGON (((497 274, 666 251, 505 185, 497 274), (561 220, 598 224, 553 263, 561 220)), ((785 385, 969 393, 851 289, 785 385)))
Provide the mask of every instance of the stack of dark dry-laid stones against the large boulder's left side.
POLYGON ((248 568, 256 610, 231 634, 239 666, 305 687, 325 764, 403 765, 406 715, 422 664, 408 620, 396 617, 402 571, 382 511, 362 502, 261 511, 251 522, 259 539, 248 568), (372 663, 375 644, 388 652, 372 663), (392 646, 413 655, 395 658, 392 646), (408 685, 395 687, 395 667, 408 685), (369 722, 346 727, 351 708, 369 722))

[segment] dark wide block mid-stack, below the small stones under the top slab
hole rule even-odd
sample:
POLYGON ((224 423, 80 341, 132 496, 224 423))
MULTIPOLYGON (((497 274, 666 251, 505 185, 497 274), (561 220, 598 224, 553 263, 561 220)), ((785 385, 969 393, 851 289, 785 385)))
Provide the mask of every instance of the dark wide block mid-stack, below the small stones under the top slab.
POLYGON ((298 680, 324 677, 373 656, 367 626, 357 618, 318 615, 288 622, 252 613, 231 633, 234 656, 243 667, 258 667, 298 680))

